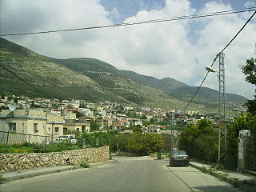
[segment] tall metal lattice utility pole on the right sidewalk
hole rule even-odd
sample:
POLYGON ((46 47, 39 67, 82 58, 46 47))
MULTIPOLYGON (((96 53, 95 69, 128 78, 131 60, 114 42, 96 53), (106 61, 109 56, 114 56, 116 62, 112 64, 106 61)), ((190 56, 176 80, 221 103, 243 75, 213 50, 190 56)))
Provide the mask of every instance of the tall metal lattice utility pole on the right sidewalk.
POLYGON ((224 53, 219 54, 218 70, 218 167, 220 159, 225 155, 226 162, 226 97, 225 97, 225 67, 224 53), (221 147, 224 139, 224 150, 221 147))

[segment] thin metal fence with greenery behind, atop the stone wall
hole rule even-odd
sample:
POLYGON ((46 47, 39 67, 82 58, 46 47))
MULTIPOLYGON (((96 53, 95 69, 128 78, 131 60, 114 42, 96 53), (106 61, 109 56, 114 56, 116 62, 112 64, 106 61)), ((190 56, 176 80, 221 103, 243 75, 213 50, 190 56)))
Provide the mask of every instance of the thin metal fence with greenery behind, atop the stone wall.
POLYGON ((35 153, 105 146, 104 138, 65 138, 0 131, 0 153, 35 153))

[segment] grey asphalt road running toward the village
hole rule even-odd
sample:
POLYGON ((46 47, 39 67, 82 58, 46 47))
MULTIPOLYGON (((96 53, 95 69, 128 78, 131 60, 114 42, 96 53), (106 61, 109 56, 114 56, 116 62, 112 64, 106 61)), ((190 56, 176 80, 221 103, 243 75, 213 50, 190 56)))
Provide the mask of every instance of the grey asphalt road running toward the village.
POLYGON ((0 185, 1 192, 49 191, 239 191, 193 167, 170 167, 147 157, 116 157, 117 162, 24 178, 0 185))

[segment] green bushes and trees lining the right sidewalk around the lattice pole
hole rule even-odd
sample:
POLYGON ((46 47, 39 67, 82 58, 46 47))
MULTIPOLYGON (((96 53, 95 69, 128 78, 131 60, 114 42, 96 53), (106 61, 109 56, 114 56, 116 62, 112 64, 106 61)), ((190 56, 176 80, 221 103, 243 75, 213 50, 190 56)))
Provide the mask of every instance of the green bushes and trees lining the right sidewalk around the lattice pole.
MULTIPOLYGON (((242 66, 242 72, 246 74, 246 82, 256 85, 256 59, 246 60, 242 66)), ((255 99, 246 102, 248 114, 234 119, 234 123, 227 126, 226 164, 229 170, 235 170, 238 166, 238 136, 240 130, 250 130, 251 142, 249 158, 256 154, 256 95, 255 99)), ((223 143, 222 143, 223 144, 223 143)), ((210 122, 200 120, 196 125, 189 125, 182 131, 180 147, 186 150, 191 158, 197 158, 206 162, 216 162, 218 159, 218 135, 214 133, 210 122)), ((222 163, 225 162, 222 159, 222 163)), ((250 161, 250 167, 256 169, 254 159, 250 161)), ((211 171, 211 170, 207 170, 211 171)), ((223 176, 225 178, 225 175, 223 176)))

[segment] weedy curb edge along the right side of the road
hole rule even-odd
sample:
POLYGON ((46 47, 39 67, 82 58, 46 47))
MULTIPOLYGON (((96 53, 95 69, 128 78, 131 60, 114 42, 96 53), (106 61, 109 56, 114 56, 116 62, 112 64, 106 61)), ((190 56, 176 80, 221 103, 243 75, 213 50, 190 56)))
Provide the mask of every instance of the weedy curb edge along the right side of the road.
MULTIPOLYGON (((193 166, 194 168, 198 169, 198 170, 204 170, 205 167, 203 166, 197 166, 197 165, 194 165, 193 163, 190 163, 190 166, 193 166)), ((246 180, 245 181, 238 181, 236 179, 233 179, 233 178, 227 178, 227 177, 222 177, 222 174, 219 174, 219 173, 212 173, 210 174, 212 176, 214 176, 215 178, 222 178, 222 180, 224 182, 228 182, 230 183, 230 185, 234 186, 235 188, 238 188, 239 190, 243 190, 243 191, 247 191, 247 192, 254 192, 256 191, 256 187, 254 186, 248 186, 245 184, 246 180)))

